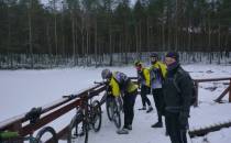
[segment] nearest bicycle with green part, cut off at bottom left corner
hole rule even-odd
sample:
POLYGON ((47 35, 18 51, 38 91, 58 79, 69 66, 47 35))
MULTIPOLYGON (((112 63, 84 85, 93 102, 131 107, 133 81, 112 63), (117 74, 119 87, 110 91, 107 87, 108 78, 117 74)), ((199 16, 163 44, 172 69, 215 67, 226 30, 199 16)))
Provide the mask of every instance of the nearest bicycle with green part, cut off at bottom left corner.
MULTIPOLYGON (((31 124, 35 124, 41 113, 42 108, 32 108, 31 111, 25 114, 25 119, 30 120, 31 124)), ((22 136, 18 131, 2 131, 0 132, 0 142, 21 143, 29 141, 29 143, 45 143, 48 140, 52 143, 58 143, 57 134, 52 127, 43 128, 37 132, 36 136, 33 136, 33 133, 34 131, 32 131, 28 136, 22 136), (47 139, 47 134, 51 134, 52 136, 47 139)))

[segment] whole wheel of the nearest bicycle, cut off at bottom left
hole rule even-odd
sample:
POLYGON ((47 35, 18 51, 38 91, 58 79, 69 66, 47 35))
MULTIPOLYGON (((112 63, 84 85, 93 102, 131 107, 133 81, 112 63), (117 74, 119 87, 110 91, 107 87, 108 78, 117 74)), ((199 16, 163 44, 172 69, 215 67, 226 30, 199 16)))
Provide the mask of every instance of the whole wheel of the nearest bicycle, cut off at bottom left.
POLYGON ((35 139, 38 143, 45 143, 47 141, 58 143, 57 134, 52 127, 45 127, 40 130, 35 139))

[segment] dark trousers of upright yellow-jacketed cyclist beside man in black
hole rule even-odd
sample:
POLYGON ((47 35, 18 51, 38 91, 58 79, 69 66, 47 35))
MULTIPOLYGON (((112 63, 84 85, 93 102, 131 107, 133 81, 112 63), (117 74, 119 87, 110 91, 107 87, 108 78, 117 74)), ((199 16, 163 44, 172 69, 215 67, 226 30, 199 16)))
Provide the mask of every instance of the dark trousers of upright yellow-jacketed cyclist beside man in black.
POLYGON ((162 88, 153 89, 152 92, 153 92, 153 98, 154 98, 155 107, 156 107, 157 114, 158 114, 158 122, 162 122, 162 116, 164 114, 163 89, 162 88))

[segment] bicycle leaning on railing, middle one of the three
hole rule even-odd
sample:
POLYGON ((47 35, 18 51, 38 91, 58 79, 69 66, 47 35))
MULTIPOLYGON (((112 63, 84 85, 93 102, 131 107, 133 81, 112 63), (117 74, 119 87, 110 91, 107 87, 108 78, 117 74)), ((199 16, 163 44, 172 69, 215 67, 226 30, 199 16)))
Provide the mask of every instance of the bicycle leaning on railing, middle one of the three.
POLYGON ((67 143, 88 143, 88 131, 98 132, 101 128, 101 107, 98 100, 91 102, 92 92, 80 97, 80 106, 68 125, 67 143), (90 102, 89 99, 90 98, 90 102))

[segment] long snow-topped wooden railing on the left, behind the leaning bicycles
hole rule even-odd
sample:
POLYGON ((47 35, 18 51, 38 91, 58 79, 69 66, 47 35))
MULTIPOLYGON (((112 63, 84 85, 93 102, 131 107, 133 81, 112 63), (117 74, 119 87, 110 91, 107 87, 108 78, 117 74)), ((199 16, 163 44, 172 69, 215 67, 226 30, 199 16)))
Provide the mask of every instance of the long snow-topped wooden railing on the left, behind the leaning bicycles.
MULTIPOLYGON (((94 86, 86 90, 79 91, 77 95, 73 95, 76 98, 72 99, 72 98, 67 98, 68 96, 66 96, 66 98, 64 97, 64 98, 59 99, 58 101, 53 102, 50 106, 42 107, 42 114, 41 114, 42 118, 40 118, 36 121, 36 123, 33 125, 31 123, 23 125, 24 123, 26 123, 29 121, 25 119, 26 113, 4 120, 4 121, 0 122, 0 131, 7 131, 7 130, 8 131, 16 131, 22 136, 29 135, 33 131, 36 131, 37 129, 46 125, 47 123, 53 122, 57 118, 64 116, 72 109, 79 106, 79 103, 80 103, 79 97, 82 97, 82 96, 87 97, 89 91, 100 94, 103 90, 105 90, 103 85, 94 86), (43 116, 43 114, 45 114, 45 116, 43 116)), ((57 133, 58 139, 61 139, 65 134, 66 131, 67 131, 67 127, 65 127, 63 130, 61 130, 57 133)))

